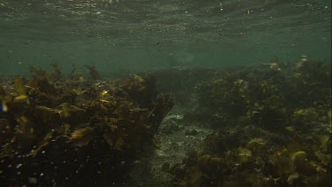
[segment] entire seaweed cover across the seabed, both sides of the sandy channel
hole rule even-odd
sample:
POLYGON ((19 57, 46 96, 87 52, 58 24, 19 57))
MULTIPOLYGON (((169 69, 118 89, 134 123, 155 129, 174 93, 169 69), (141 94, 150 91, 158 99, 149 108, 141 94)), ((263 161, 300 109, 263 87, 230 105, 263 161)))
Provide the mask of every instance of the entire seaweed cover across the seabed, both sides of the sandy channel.
MULTIPOLYGON (((331 71, 324 63, 171 69, 113 81, 94 66, 85 66, 90 79, 75 67, 65 79, 52 66, 52 73, 31 66, 29 79, 2 80, 5 185, 127 185, 130 168, 158 148, 159 131, 204 142, 181 163, 158 166, 174 176, 170 186, 332 185, 331 71), (161 130, 174 104, 157 87, 187 107, 161 130), (209 132, 200 136, 188 123, 209 132)), ((180 152, 176 142, 164 144, 180 152)))

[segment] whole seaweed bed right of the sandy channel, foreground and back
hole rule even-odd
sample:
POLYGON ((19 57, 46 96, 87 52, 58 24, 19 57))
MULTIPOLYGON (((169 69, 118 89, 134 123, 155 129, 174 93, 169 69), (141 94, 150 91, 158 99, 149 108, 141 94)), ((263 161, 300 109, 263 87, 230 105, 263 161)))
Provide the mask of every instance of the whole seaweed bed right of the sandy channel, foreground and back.
POLYGON ((171 167, 172 186, 331 186, 328 65, 220 72, 196 90, 199 104, 185 118, 215 132, 171 167))

